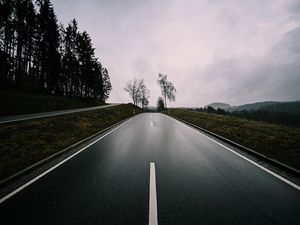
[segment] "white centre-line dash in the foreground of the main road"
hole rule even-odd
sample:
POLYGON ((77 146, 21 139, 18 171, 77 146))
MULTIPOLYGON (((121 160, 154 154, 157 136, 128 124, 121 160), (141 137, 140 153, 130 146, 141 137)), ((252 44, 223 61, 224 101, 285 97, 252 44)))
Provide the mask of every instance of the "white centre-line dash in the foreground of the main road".
POLYGON ((150 163, 149 225, 158 225, 155 163, 150 163))

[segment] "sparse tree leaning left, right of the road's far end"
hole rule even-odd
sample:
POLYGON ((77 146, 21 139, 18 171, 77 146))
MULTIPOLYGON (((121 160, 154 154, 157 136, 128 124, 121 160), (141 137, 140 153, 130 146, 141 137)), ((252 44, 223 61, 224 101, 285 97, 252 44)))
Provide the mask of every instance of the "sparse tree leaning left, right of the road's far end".
POLYGON ((175 101, 176 89, 174 85, 168 81, 168 76, 161 73, 158 74, 157 83, 159 84, 161 93, 164 97, 165 108, 167 108, 167 99, 169 101, 175 101))

